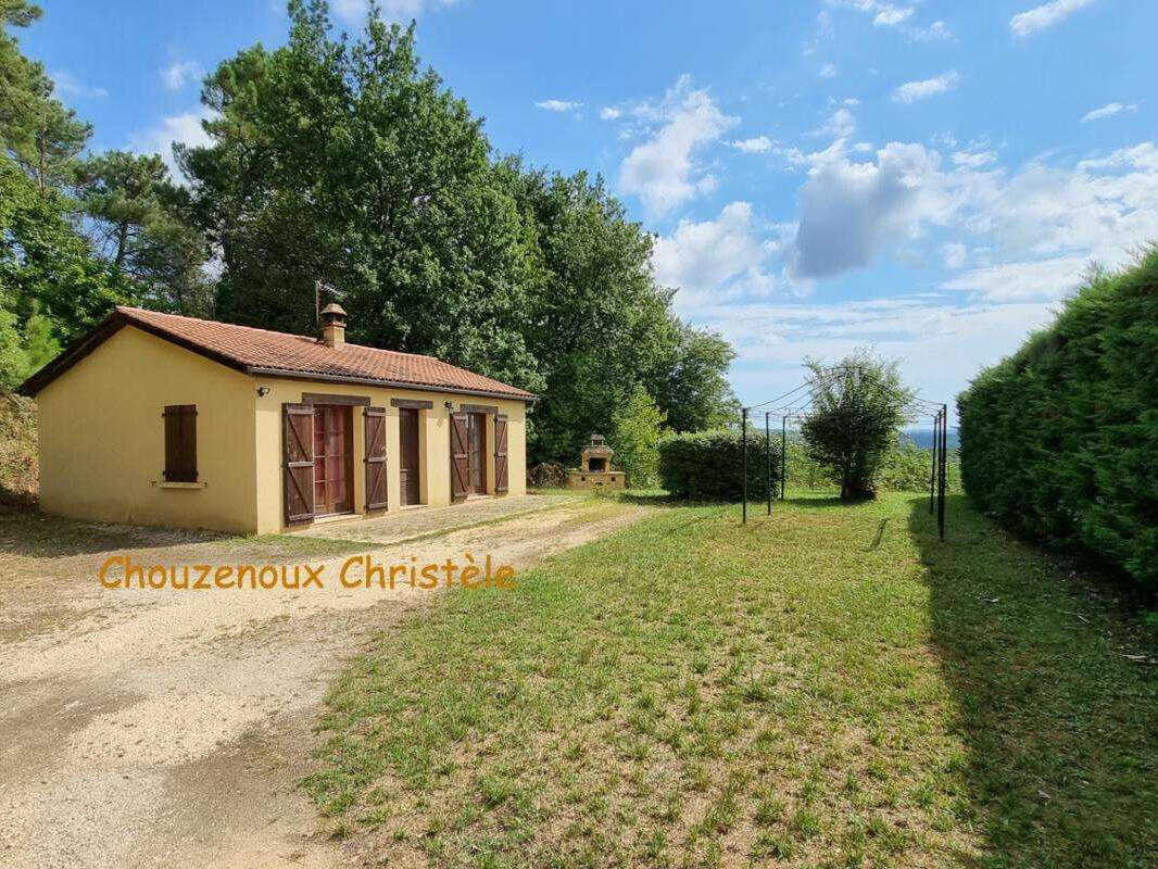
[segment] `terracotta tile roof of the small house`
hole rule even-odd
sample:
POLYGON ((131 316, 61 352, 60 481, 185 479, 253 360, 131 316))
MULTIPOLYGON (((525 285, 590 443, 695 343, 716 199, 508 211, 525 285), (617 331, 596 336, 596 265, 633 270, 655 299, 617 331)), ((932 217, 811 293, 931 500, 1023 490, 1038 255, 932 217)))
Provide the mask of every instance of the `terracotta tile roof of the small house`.
MULTIPOLYGON (((394 350, 345 344, 335 349, 316 338, 303 335, 254 329, 248 326, 219 323, 177 314, 118 306, 109 321, 131 323, 163 338, 169 338, 195 352, 252 374, 285 375, 300 379, 317 377, 320 380, 350 382, 381 382, 410 386, 416 389, 431 387, 438 390, 457 390, 494 397, 533 400, 535 395, 507 384, 449 365, 431 356, 400 353, 394 350)), ((98 330, 100 331, 100 328, 98 330)), ((110 333, 111 334, 111 333, 110 333)), ((85 342, 82 342, 85 343, 85 342)), ((54 371, 58 363, 71 364, 66 352, 29 379, 25 387, 32 392, 64 371, 54 371), (53 371, 50 371, 53 370, 53 371), (46 375, 41 382, 42 375, 46 375)))

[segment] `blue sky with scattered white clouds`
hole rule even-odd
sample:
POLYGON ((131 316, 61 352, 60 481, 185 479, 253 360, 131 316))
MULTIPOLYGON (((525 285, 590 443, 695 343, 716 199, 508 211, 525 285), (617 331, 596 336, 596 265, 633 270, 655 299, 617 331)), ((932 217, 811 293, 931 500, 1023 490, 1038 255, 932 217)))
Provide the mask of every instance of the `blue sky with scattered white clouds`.
MULTIPOLYGON (((272 0, 45 0, 20 35, 93 146, 197 141, 198 83, 272 0)), ((334 3, 340 27, 361 0, 334 3)), ((952 400, 1091 260, 1158 239, 1145 0, 391 0, 499 151, 604 175, 755 403, 874 344, 952 400)))

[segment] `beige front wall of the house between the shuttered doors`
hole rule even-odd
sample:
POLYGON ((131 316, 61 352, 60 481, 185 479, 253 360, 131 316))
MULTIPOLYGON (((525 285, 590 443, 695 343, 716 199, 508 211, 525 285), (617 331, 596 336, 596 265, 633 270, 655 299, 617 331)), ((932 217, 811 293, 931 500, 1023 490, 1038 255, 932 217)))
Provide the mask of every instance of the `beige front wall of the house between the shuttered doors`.
MULTIPOLYGON (((371 386, 351 386, 280 378, 258 378, 255 387, 269 388, 269 394, 257 399, 257 533, 271 534, 284 530, 281 469, 281 406, 302 400, 303 393, 353 395, 369 399, 373 407, 386 408, 386 455, 388 511, 400 506, 398 477, 398 409, 391 399, 430 401, 433 408, 418 411, 418 454, 422 465, 419 496, 424 504, 444 506, 450 503, 450 402, 457 410, 462 404, 497 407, 507 416, 507 485, 508 495, 527 492, 527 415, 521 401, 501 401, 472 395, 420 392, 411 389, 381 389, 371 386)), ((255 392, 256 394, 256 392, 255 392)), ((362 512, 366 504, 366 469, 361 408, 353 409, 354 444, 354 509, 362 512)), ((494 491, 494 417, 486 418, 486 489, 494 491)))

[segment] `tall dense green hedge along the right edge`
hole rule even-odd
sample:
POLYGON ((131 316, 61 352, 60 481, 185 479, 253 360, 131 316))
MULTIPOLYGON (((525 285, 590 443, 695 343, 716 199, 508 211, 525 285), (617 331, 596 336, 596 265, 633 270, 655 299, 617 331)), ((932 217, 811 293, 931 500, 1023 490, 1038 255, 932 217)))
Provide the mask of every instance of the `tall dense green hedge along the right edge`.
POLYGON ((1158 253, 1092 279, 958 411, 983 510, 1158 589, 1158 253))

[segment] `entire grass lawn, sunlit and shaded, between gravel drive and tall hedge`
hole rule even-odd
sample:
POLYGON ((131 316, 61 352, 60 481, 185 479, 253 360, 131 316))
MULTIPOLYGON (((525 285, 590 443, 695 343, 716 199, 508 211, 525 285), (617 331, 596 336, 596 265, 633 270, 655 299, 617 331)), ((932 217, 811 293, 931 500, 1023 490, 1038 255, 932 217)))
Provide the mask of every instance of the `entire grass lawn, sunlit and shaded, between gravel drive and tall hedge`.
POLYGON ((382 866, 1158 866, 1155 637, 961 497, 662 505, 336 686, 305 786, 382 866))

